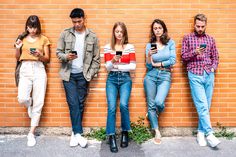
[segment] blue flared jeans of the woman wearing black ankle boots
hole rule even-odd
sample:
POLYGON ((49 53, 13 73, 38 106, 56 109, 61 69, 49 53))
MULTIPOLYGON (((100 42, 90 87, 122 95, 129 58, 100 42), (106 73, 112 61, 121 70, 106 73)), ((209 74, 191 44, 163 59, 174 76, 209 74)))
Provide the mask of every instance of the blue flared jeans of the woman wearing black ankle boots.
POLYGON ((129 117, 129 98, 132 81, 129 72, 110 72, 106 81, 107 125, 106 134, 114 135, 116 128, 116 101, 120 94, 120 112, 122 131, 131 130, 129 117))

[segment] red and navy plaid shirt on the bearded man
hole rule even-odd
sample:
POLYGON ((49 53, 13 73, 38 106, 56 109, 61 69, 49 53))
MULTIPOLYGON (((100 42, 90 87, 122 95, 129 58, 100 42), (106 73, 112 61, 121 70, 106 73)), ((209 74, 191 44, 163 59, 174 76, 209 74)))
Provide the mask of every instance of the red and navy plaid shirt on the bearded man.
POLYGON ((215 40, 207 34, 200 36, 196 33, 190 33, 184 36, 181 57, 187 64, 187 71, 196 75, 203 75, 204 70, 210 73, 211 69, 216 70, 219 64, 219 54, 215 40), (196 53, 196 48, 200 47, 200 44, 207 45, 202 55, 196 53))

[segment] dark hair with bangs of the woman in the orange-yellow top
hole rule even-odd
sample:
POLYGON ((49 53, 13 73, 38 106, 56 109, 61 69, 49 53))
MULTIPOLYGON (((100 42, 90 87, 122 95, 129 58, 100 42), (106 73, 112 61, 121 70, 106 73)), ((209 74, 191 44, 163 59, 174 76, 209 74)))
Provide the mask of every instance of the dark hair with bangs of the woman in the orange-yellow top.
POLYGON ((27 34, 29 34, 27 27, 37 28, 36 34, 37 35, 41 34, 41 24, 40 24, 38 16, 31 15, 28 17, 28 19, 25 23, 25 32, 27 32, 27 34))

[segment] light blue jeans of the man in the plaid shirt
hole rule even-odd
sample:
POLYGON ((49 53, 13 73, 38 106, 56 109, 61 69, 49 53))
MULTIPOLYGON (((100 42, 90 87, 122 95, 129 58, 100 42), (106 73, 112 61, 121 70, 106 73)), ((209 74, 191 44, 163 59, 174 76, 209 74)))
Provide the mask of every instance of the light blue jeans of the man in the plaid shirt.
POLYGON ((198 131, 206 135, 213 132, 210 121, 211 99, 214 89, 214 73, 195 75, 188 72, 191 95, 198 113, 198 131))

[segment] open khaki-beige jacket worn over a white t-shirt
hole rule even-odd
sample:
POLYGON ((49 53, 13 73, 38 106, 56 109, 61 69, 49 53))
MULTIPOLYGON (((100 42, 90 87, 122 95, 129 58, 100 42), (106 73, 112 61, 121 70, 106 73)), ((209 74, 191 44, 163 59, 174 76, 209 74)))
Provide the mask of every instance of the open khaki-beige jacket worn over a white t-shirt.
MULTIPOLYGON (((61 61, 60 76, 62 80, 69 81, 72 61, 67 60, 66 54, 73 50, 75 45, 74 28, 65 29, 58 40, 56 55, 61 61)), ((100 68, 100 51, 98 38, 91 30, 86 29, 84 42, 83 74, 87 81, 98 73, 100 68)))

